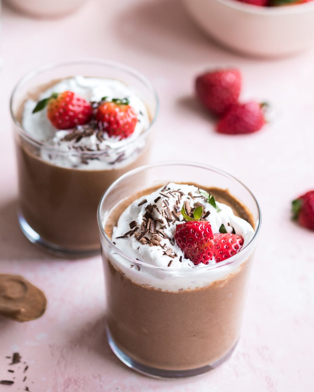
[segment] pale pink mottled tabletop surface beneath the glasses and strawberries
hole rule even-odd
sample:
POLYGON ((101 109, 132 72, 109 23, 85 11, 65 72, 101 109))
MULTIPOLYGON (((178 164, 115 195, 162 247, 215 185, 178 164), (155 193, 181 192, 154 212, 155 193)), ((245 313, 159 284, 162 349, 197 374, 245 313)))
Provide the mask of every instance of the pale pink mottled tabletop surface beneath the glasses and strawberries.
POLYGON ((314 188, 314 48, 283 60, 237 56, 204 37, 178 0, 89 1, 59 20, 35 20, 4 7, 2 22, 0 272, 26 276, 44 289, 49 305, 37 321, 0 319, 0 379, 15 377, 0 391, 314 391, 314 232, 289 220, 290 201, 314 188), (210 373, 159 381, 124 367, 104 337, 100 257, 54 258, 18 228, 9 93, 38 65, 86 56, 127 63, 156 86, 161 110, 152 162, 173 158, 217 166, 241 179, 261 205, 241 339, 232 358, 210 373), (276 109, 274 122, 258 134, 219 135, 194 102, 194 76, 229 65, 243 72, 243 98, 268 100, 276 109), (166 138, 180 147, 173 150, 166 138), (23 363, 7 372, 5 356, 16 350, 29 365, 25 374, 23 363))

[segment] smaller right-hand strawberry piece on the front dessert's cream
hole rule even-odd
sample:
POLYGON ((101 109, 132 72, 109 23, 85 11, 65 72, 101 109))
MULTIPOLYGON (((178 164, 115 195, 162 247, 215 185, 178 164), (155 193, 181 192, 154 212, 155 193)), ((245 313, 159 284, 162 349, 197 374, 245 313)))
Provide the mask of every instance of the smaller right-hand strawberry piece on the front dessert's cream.
POLYGON ((237 234, 218 233, 214 234, 214 249, 213 254, 216 263, 223 261, 233 256, 243 246, 243 238, 237 234))

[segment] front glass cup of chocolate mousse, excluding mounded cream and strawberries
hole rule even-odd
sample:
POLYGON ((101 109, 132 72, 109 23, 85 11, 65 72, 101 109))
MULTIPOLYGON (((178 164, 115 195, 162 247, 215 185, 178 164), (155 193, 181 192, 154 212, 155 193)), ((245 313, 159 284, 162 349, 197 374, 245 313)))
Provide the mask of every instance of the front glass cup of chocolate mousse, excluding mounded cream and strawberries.
POLYGON ((147 165, 124 174, 108 188, 97 218, 106 282, 107 337, 117 357, 128 367, 154 377, 194 376, 225 361, 239 338, 261 225, 259 205, 245 185, 199 164, 147 165), (122 252, 111 240, 120 214, 134 200, 169 181, 197 184, 212 192, 235 215, 250 221, 252 238, 224 261, 189 269, 150 265, 122 252))

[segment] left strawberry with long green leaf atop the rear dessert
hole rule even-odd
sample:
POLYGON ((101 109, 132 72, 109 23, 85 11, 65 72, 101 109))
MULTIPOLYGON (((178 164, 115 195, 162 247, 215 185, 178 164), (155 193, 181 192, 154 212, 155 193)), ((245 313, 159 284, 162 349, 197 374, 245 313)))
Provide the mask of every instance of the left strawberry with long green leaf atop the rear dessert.
POLYGON ((93 108, 72 91, 53 93, 49 98, 39 101, 33 113, 47 106, 47 117, 57 129, 70 129, 87 124, 93 116, 93 108))

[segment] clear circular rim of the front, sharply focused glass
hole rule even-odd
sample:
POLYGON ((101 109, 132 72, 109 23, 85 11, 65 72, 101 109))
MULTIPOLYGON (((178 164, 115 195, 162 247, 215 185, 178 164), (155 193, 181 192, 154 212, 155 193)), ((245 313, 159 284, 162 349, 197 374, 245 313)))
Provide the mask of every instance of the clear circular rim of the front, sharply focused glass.
POLYGON ((174 272, 178 272, 180 271, 181 274, 182 273, 186 273, 185 271, 204 271, 204 270, 210 270, 210 269, 216 269, 219 267, 223 267, 225 265, 234 263, 238 258, 239 255, 243 254, 244 250, 250 249, 252 248, 252 246, 254 245, 254 243, 256 242, 256 238, 257 235, 259 233, 259 230, 261 228, 261 209, 259 207, 259 204, 254 196, 254 194, 250 191, 250 189, 248 189, 248 187, 246 187, 246 185, 244 185, 241 181, 239 181, 237 178, 235 178, 234 176, 232 176, 231 174, 218 169, 217 167, 211 166, 211 165, 203 165, 199 162, 183 162, 183 161, 165 161, 165 162, 157 162, 157 163, 150 163, 148 165, 143 165, 140 167, 137 167, 133 170, 130 170, 124 174, 122 174, 122 176, 120 176, 117 180, 115 180, 110 187, 106 190, 106 192, 104 192, 104 194, 102 195, 100 201, 99 201, 99 205, 98 205, 98 209, 97 209, 97 222, 98 222, 98 227, 99 227, 99 231, 100 231, 100 237, 103 238, 108 245, 110 246, 111 249, 113 249, 117 254, 119 254, 120 256, 122 256, 124 259, 130 261, 130 263, 135 264, 135 265, 141 265, 144 268, 148 268, 148 269, 152 269, 152 270, 166 270, 169 272, 174 271, 174 272), (251 240, 249 241, 249 243, 243 247, 238 253, 236 253, 234 256, 231 256, 230 258, 226 259, 225 261, 220 261, 219 263, 215 263, 215 264, 204 264, 204 266, 198 267, 197 269, 190 269, 190 268, 186 268, 186 269, 180 269, 180 268, 167 268, 167 267, 159 267, 156 265, 151 265, 149 263, 145 263, 144 261, 141 260, 137 260, 137 259, 133 259, 132 257, 128 256, 126 253, 122 252, 122 250, 120 250, 118 247, 116 247, 114 245, 114 243, 110 240, 110 238, 107 236, 104 227, 102 225, 102 221, 101 221, 101 210, 102 210, 102 206, 104 201, 106 200, 107 196, 110 194, 110 192, 122 181, 124 181, 126 178, 130 178, 131 176, 138 174, 142 171, 145 171, 147 169, 152 169, 154 167, 162 167, 162 166, 190 166, 190 167, 195 167, 198 169, 207 169, 210 171, 213 171, 217 174, 221 174, 227 178, 229 178, 230 180, 233 180, 235 182, 237 182, 238 184, 240 184, 252 197, 256 207, 257 207, 257 212, 258 212, 258 220, 257 220, 257 226, 256 229, 254 230, 254 235, 251 238, 251 240))

